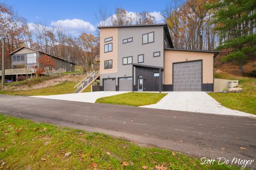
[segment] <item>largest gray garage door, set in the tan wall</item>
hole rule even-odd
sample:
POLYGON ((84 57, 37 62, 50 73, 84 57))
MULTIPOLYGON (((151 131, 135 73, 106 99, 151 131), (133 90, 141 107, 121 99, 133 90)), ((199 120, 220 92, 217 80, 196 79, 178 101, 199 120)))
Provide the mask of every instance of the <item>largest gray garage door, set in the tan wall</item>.
POLYGON ((173 91, 202 91, 202 61, 173 64, 173 91))

